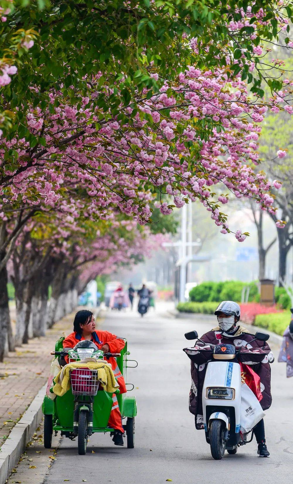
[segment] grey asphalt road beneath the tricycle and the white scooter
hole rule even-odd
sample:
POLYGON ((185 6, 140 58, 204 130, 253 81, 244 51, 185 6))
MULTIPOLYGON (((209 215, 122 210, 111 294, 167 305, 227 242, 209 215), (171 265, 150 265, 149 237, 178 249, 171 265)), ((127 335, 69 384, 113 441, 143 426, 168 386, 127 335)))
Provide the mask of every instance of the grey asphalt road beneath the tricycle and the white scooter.
MULTIPOLYGON (((291 483, 293 379, 286 379, 283 363, 272 365, 273 404, 265 417, 270 458, 257 456, 254 440, 236 455, 225 453, 221 461, 215 461, 204 432, 195 430, 188 410, 190 363, 182 348, 189 343, 184 333, 196 329, 203 334, 211 326, 210 317, 175 319, 163 307, 144 318, 135 311, 108 312, 102 329, 125 336, 130 358, 139 363, 136 369, 128 370, 127 378, 134 384, 138 405, 135 448, 116 447, 109 435, 95 434, 89 439, 87 454, 79 456, 76 442, 54 437, 54 445, 58 446, 56 459, 46 475, 38 475, 38 465, 32 472, 26 463, 27 470, 19 466, 21 481, 162 484, 171 479, 176 484, 291 483)), ((272 349, 278 356, 278 348, 272 349)), ((17 482, 17 473, 9 481, 13 482, 17 482)))

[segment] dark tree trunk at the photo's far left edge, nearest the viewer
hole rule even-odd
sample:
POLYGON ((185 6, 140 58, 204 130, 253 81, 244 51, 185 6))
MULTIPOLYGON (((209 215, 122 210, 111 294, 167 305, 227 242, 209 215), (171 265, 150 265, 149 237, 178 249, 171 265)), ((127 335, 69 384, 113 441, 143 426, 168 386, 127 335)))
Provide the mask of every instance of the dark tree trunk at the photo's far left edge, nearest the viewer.
MULTIPOLYGON (((0 261, 4 254, 0 253, 0 261)), ((10 327, 9 302, 7 292, 7 269, 4 267, 0 272, 0 362, 3 361, 8 349, 8 328, 10 327)))

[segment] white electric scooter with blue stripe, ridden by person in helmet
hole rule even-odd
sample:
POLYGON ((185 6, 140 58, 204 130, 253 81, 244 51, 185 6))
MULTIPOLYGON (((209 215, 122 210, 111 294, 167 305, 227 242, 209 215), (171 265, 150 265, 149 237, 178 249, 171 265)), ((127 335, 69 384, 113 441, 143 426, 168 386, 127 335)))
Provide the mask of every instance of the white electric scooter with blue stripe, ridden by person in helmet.
MULTIPOLYGON (((196 331, 185 333, 185 337, 201 341, 196 331)), ((267 341, 269 335, 256 333, 255 339, 267 341)), ((253 438, 253 430, 249 440, 250 432, 240 432, 241 371, 238 361, 241 353, 233 345, 201 343, 204 346, 196 344, 194 348, 184 348, 183 351, 193 363, 207 363, 202 392, 205 439, 210 444, 213 458, 220 460, 225 450, 228 454, 236 454, 238 446, 251 442, 253 438)), ((262 361, 264 358, 263 352, 255 353, 253 348, 251 354, 254 360, 259 357, 262 361)))

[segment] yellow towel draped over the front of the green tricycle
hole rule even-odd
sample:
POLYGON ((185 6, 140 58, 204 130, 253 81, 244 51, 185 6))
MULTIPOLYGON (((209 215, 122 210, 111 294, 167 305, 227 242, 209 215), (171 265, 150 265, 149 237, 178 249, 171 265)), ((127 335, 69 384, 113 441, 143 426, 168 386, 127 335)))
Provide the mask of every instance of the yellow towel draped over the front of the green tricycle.
POLYGON ((98 370, 98 380, 101 382, 103 389, 106 392, 114 393, 119 387, 117 380, 115 379, 112 368, 105 363, 68 363, 59 371, 58 375, 54 378, 53 392, 62 396, 70 389, 70 370, 74 368, 88 368, 89 370, 98 370), (63 374, 62 381, 60 380, 61 372, 63 374))

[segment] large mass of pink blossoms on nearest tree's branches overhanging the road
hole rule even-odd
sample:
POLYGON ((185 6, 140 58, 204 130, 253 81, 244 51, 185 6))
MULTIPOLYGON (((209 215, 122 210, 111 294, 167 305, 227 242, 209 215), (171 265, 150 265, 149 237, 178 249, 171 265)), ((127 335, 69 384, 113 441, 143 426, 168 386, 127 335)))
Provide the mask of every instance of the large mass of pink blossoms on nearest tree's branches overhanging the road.
MULTIPOLYGON (((259 163, 265 112, 282 108, 291 88, 286 85, 284 95, 270 103, 255 102, 245 82, 229 75, 227 68, 212 72, 190 66, 156 94, 137 92, 135 109, 121 103, 123 122, 96 106, 99 93, 113 93, 107 81, 101 87, 100 76, 75 105, 65 103, 60 92, 50 92, 51 106, 31 107, 27 116, 29 131, 42 143, 32 150, 24 137, 1 140, 2 158, 7 151, 17 156, 0 168, 0 217, 5 220, 6 207, 17 204, 42 205, 45 210, 58 206, 72 219, 108 219, 118 208, 145 225, 154 193, 159 193, 163 214, 181 208, 187 198, 198 199, 227 233, 226 217, 218 207, 229 196, 216 195, 211 188, 215 185, 275 212, 271 182, 256 174, 253 165, 259 163)), ((245 239, 239 231, 235 237, 245 239)))

